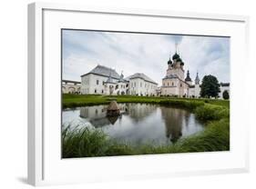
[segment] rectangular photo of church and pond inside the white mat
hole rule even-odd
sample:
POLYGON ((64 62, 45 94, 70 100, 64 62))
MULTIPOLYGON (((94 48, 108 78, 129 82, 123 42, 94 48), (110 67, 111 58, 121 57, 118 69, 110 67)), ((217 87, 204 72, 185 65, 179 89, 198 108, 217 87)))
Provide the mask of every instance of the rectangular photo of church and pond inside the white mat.
POLYGON ((230 36, 61 29, 61 157, 230 151, 230 36))

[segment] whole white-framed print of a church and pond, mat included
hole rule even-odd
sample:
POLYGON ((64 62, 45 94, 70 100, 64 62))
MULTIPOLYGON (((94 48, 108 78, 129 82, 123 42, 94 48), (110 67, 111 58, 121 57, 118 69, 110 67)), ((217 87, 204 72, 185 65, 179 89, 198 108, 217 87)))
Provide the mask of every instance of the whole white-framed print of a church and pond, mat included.
POLYGON ((28 5, 28 181, 248 171, 248 17, 28 5))

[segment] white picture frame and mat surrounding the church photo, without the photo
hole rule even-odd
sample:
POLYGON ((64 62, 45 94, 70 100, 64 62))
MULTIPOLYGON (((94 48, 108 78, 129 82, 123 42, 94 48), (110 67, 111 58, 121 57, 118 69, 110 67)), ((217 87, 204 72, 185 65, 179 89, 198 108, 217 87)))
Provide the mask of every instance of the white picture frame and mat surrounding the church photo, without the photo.
POLYGON ((241 15, 46 3, 28 5, 28 183, 76 184, 247 172, 249 131, 247 121, 243 119, 246 116, 247 104, 244 104, 242 99, 246 98, 248 90, 243 88, 241 93, 240 86, 246 82, 248 25, 249 18, 241 15), (116 19, 116 25, 113 18, 116 19), (88 20, 90 22, 87 22, 88 20), (150 25, 152 20, 158 23, 157 28, 150 25), (143 26, 139 25, 141 22, 144 23, 143 26), (168 22, 179 22, 180 25, 177 28, 164 27, 168 22), (187 27, 182 23, 187 24, 187 27), (172 29, 174 34, 230 36, 230 152, 61 159, 58 126, 61 107, 58 31, 60 28, 70 27, 162 33, 168 33, 172 29), (244 66, 240 66, 241 62, 244 66), (50 96, 49 90, 54 91, 50 96), (58 128, 49 127, 51 123, 56 124, 58 128), (85 168, 87 171, 83 171, 85 168), (99 169, 102 170, 98 172, 99 169))

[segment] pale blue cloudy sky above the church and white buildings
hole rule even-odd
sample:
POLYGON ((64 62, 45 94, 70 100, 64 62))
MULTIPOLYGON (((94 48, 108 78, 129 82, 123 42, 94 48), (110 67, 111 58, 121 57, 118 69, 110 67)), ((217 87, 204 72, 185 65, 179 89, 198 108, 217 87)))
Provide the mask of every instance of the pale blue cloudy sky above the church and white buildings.
POLYGON ((178 53, 194 81, 197 71, 230 82, 230 38, 63 30, 63 79, 80 81, 97 65, 123 71, 125 77, 144 73, 161 84, 169 56, 178 53))

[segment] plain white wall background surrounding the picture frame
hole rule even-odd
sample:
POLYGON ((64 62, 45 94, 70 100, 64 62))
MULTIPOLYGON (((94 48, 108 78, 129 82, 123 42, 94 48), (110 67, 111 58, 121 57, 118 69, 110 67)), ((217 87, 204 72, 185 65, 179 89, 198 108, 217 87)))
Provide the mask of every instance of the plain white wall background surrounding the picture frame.
MULTIPOLYGON (((0 50, 1 66, 0 79, 2 81, 1 91, 1 161, 0 161, 0 187, 5 189, 29 189, 31 186, 26 184, 26 4, 31 0, 8 0, 2 1, 0 19, 1 35, 0 50), (16 84, 15 87, 14 85, 16 84), (18 93, 17 93, 18 92, 18 93), (14 104, 15 102, 15 104, 14 104), (15 108, 15 111, 14 111, 15 108), (14 114, 15 113, 15 119, 14 114), (15 139, 15 140, 14 140, 15 139), (3 155, 5 154, 5 155, 3 155)), ((71 3, 70 0, 52 0, 51 2, 71 3)), ((244 87, 250 88, 251 93, 248 99, 242 99, 248 104, 248 119, 251 123, 251 172, 250 174, 226 174, 226 175, 207 175, 172 177, 164 179, 133 180, 131 182, 88 184, 88 185, 66 185, 49 186, 47 189, 67 189, 67 188, 184 188, 184 189, 216 189, 216 188, 256 188, 256 92, 254 71, 256 70, 256 12, 254 1, 252 0, 73 0, 72 3, 130 7, 146 9, 164 9, 174 11, 202 12, 211 14, 228 15, 251 15, 250 25, 250 45, 251 45, 251 65, 248 68, 248 84, 244 87)), ((170 25, 171 26, 171 25, 170 25)), ((185 62, 186 64, 186 62, 185 62)), ((78 160, 79 161, 79 160, 78 160)), ((131 163, 132 166, 132 163, 131 163)), ((168 166, 168 164, 167 164, 168 166)))

